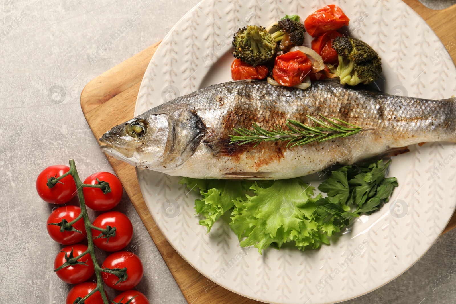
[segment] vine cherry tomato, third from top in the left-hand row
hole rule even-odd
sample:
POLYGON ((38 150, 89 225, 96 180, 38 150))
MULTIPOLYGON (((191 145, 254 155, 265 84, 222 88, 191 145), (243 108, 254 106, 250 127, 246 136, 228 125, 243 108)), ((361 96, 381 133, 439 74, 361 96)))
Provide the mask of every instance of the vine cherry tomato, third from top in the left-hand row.
MULTIPOLYGON (((67 262, 65 259, 65 252, 67 257, 70 256, 71 250, 73 249, 73 257, 76 258, 81 253, 87 250, 86 245, 75 244, 62 248, 62 251, 57 253, 54 260, 54 269, 59 268, 63 263, 67 262)), ((85 262, 87 265, 70 265, 57 271, 57 276, 65 283, 78 284, 87 281, 94 273, 93 262, 90 254, 83 255, 82 258, 78 258, 78 261, 85 262)))

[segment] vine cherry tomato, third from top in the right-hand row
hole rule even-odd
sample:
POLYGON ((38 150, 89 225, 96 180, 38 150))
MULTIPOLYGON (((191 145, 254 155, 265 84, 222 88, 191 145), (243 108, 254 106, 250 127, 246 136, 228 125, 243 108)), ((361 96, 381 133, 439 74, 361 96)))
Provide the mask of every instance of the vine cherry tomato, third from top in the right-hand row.
POLYGON ((144 274, 140 258, 133 252, 119 251, 110 254, 103 262, 101 268, 127 268, 127 279, 117 283, 119 278, 113 273, 102 273, 103 281, 110 288, 117 290, 128 290, 135 287, 144 274), (117 283, 117 284, 116 284, 117 283))

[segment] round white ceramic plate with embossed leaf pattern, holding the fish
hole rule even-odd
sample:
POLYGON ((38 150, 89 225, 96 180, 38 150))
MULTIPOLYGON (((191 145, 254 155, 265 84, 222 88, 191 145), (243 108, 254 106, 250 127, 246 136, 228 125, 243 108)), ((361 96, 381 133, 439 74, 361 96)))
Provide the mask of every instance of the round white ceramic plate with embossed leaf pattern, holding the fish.
MULTIPOLYGON (((135 115, 199 88, 230 81, 231 39, 238 27, 267 26, 285 13, 305 18, 328 4, 342 7, 351 19, 347 31, 382 57, 384 81, 378 83, 384 92, 432 99, 449 98, 456 92, 456 68, 445 46, 399 0, 203 0, 155 52, 135 115)), ((306 42, 310 41, 307 36, 306 42)), ((208 234, 198 224, 200 218, 193 209, 196 195, 178 185, 178 177, 138 170, 138 180, 161 232, 207 278, 268 303, 334 303, 393 280, 439 237, 456 205, 454 147, 425 144, 395 157, 389 175, 397 177, 399 187, 392 202, 371 216, 362 216, 337 242, 318 251, 269 248, 260 255, 256 248, 240 248, 223 220, 208 234)), ((311 183, 318 185, 318 175, 312 178, 311 183)))

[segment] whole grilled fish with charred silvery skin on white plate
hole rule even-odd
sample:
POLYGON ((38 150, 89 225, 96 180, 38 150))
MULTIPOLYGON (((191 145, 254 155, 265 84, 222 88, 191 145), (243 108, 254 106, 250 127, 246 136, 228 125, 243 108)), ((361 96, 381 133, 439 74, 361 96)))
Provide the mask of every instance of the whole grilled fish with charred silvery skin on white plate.
POLYGON ((306 90, 264 81, 226 82, 152 108, 100 140, 106 153, 170 175, 285 179, 334 163, 353 164, 391 149, 404 151, 400 148, 410 144, 455 142, 455 101, 391 96, 369 88, 347 88, 338 81, 312 82, 306 90), (284 127, 287 119, 311 125, 306 115, 320 114, 373 130, 293 148, 284 142, 256 147, 230 144, 234 128, 250 129, 253 123, 264 129, 284 127), (138 121, 146 122, 147 131, 130 139, 126 126, 138 121))

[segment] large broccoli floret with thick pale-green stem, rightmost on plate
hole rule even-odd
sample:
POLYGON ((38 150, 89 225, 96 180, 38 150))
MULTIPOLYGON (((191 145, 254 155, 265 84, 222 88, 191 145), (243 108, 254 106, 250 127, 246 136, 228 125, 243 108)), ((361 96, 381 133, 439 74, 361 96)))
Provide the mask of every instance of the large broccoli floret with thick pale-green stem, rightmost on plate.
POLYGON ((339 65, 337 69, 332 68, 332 72, 340 78, 341 84, 368 84, 382 72, 382 59, 367 43, 352 37, 337 37, 332 47, 339 57, 339 65))

